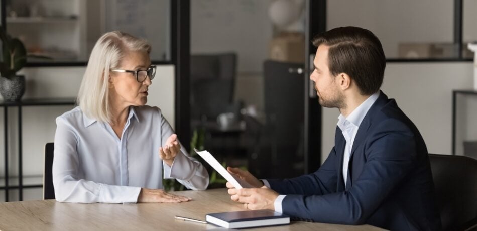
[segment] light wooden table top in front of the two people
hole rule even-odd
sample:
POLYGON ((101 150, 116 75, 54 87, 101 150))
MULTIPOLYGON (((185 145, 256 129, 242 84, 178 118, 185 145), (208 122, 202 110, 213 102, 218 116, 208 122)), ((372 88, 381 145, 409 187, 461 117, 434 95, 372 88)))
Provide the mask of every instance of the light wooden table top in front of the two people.
MULTIPOLYGON (((180 215, 205 220, 205 214, 244 210, 226 189, 180 191, 193 198, 177 204, 77 204, 55 200, 0 203, 0 230, 209 230, 220 228, 174 219, 180 215)), ((290 225, 246 230, 382 230, 371 225, 338 225, 292 221, 290 225)))

